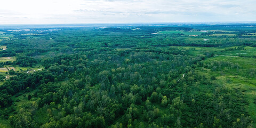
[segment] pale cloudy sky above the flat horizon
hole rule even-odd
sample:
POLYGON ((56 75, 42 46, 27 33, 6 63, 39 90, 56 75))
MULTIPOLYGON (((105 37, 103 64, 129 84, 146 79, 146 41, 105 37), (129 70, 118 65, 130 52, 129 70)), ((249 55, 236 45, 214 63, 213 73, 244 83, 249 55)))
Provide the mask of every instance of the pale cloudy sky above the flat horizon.
POLYGON ((0 25, 256 21, 255 0, 3 0, 0 25))

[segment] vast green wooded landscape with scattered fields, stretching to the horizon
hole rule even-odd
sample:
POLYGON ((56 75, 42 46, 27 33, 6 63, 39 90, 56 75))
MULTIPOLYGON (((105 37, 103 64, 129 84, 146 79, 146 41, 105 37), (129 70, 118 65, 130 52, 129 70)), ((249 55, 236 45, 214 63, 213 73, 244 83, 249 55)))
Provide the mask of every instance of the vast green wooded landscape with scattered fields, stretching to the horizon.
POLYGON ((0 28, 0 127, 256 127, 256 26, 0 28))

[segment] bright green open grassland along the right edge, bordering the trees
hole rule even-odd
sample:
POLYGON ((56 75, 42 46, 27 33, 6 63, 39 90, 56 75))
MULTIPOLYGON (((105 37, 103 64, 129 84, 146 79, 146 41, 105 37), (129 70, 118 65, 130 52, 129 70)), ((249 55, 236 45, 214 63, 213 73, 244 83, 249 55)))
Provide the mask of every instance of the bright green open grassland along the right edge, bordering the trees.
MULTIPOLYGON (((189 50, 189 54, 202 54, 205 51, 210 51, 218 55, 205 60, 205 62, 211 61, 222 61, 222 62, 232 62, 239 65, 239 69, 247 71, 249 69, 256 69, 256 59, 251 58, 251 55, 256 54, 256 47, 245 47, 246 50, 235 50, 235 51, 223 51, 225 49, 218 47, 183 47, 189 50), (193 49, 193 50, 192 50, 193 49), (221 52, 222 51, 222 52, 221 52), (230 57, 235 55, 244 55, 243 57, 230 57), (230 56, 227 56, 230 55, 230 56)), ((242 72, 243 72, 242 71, 242 72)), ((254 99, 256 98, 256 77, 250 77, 249 75, 244 75, 244 73, 238 73, 237 69, 223 69, 223 73, 220 71, 212 71, 209 69, 200 70, 199 72, 207 75, 215 74, 218 84, 231 87, 232 89, 244 90, 242 91, 245 98, 249 102, 245 105, 246 111, 251 115, 254 126, 256 126, 256 104, 254 99)))

